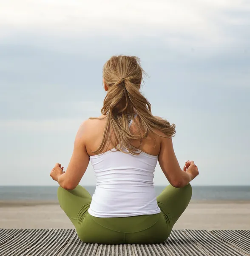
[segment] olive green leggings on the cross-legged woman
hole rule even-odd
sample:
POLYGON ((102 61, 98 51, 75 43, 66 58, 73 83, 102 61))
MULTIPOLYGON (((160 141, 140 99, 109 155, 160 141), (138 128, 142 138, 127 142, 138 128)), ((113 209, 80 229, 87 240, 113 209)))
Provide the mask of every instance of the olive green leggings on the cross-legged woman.
POLYGON ((167 186, 157 197, 161 212, 133 217, 98 218, 88 213, 91 195, 82 186, 73 190, 59 187, 60 207, 74 224, 77 235, 85 243, 156 244, 164 242, 189 204, 190 184, 184 188, 167 186))

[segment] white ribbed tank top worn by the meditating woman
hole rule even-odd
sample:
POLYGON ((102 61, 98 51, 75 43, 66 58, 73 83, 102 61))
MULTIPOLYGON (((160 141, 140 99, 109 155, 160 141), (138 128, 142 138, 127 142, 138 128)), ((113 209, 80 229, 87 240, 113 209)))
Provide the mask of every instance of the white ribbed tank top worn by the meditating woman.
MULTIPOLYGON (((132 120, 129 127, 131 124, 132 120)), ((115 150, 90 156, 97 183, 89 214, 112 218, 159 213, 153 186, 158 156, 143 151, 134 156, 115 150)))

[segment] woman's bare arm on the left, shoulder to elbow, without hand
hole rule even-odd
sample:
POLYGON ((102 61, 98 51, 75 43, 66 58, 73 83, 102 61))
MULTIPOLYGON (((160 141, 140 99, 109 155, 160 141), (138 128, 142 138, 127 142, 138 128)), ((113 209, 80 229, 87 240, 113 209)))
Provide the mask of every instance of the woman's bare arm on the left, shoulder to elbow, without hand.
POLYGON ((74 151, 68 164, 67 171, 58 177, 57 182, 64 189, 74 189, 82 179, 89 163, 89 155, 86 151, 85 140, 87 137, 87 122, 80 126, 75 142, 74 151))

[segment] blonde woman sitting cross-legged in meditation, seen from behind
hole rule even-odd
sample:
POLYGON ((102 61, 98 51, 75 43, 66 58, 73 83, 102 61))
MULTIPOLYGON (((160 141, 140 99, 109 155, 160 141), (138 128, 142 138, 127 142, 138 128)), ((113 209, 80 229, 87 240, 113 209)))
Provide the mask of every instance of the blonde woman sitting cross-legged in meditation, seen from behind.
POLYGON ((161 243, 189 204, 197 166, 187 161, 180 168, 172 144, 175 125, 152 115, 139 92, 143 73, 134 56, 105 63, 102 116, 80 126, 67 172, 59 163, 51 170, 60 185, 60 207, 86 243, 161 243), (78 185, 89 160, 97 180, 92 198, 78 185), (157 160, 170 185, 156 198, 157 160))

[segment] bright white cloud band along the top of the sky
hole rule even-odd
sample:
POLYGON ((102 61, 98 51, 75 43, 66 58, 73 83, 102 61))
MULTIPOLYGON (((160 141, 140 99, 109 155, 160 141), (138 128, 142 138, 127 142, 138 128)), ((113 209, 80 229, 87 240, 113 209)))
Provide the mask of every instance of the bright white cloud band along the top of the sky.
POLYGON ((225 33, 223 26, 245 25, 247 16, 241 15, 247 10, 249 3, 231 0, 125 3, 12 0, 1 4, 1 38, 11 38, 18 32, 27 35, 39 32, 59 38, 116 36, 125 40, 164 35, 172 47, 183 44, 218 47, 241 41, 241 37, 225 33))

